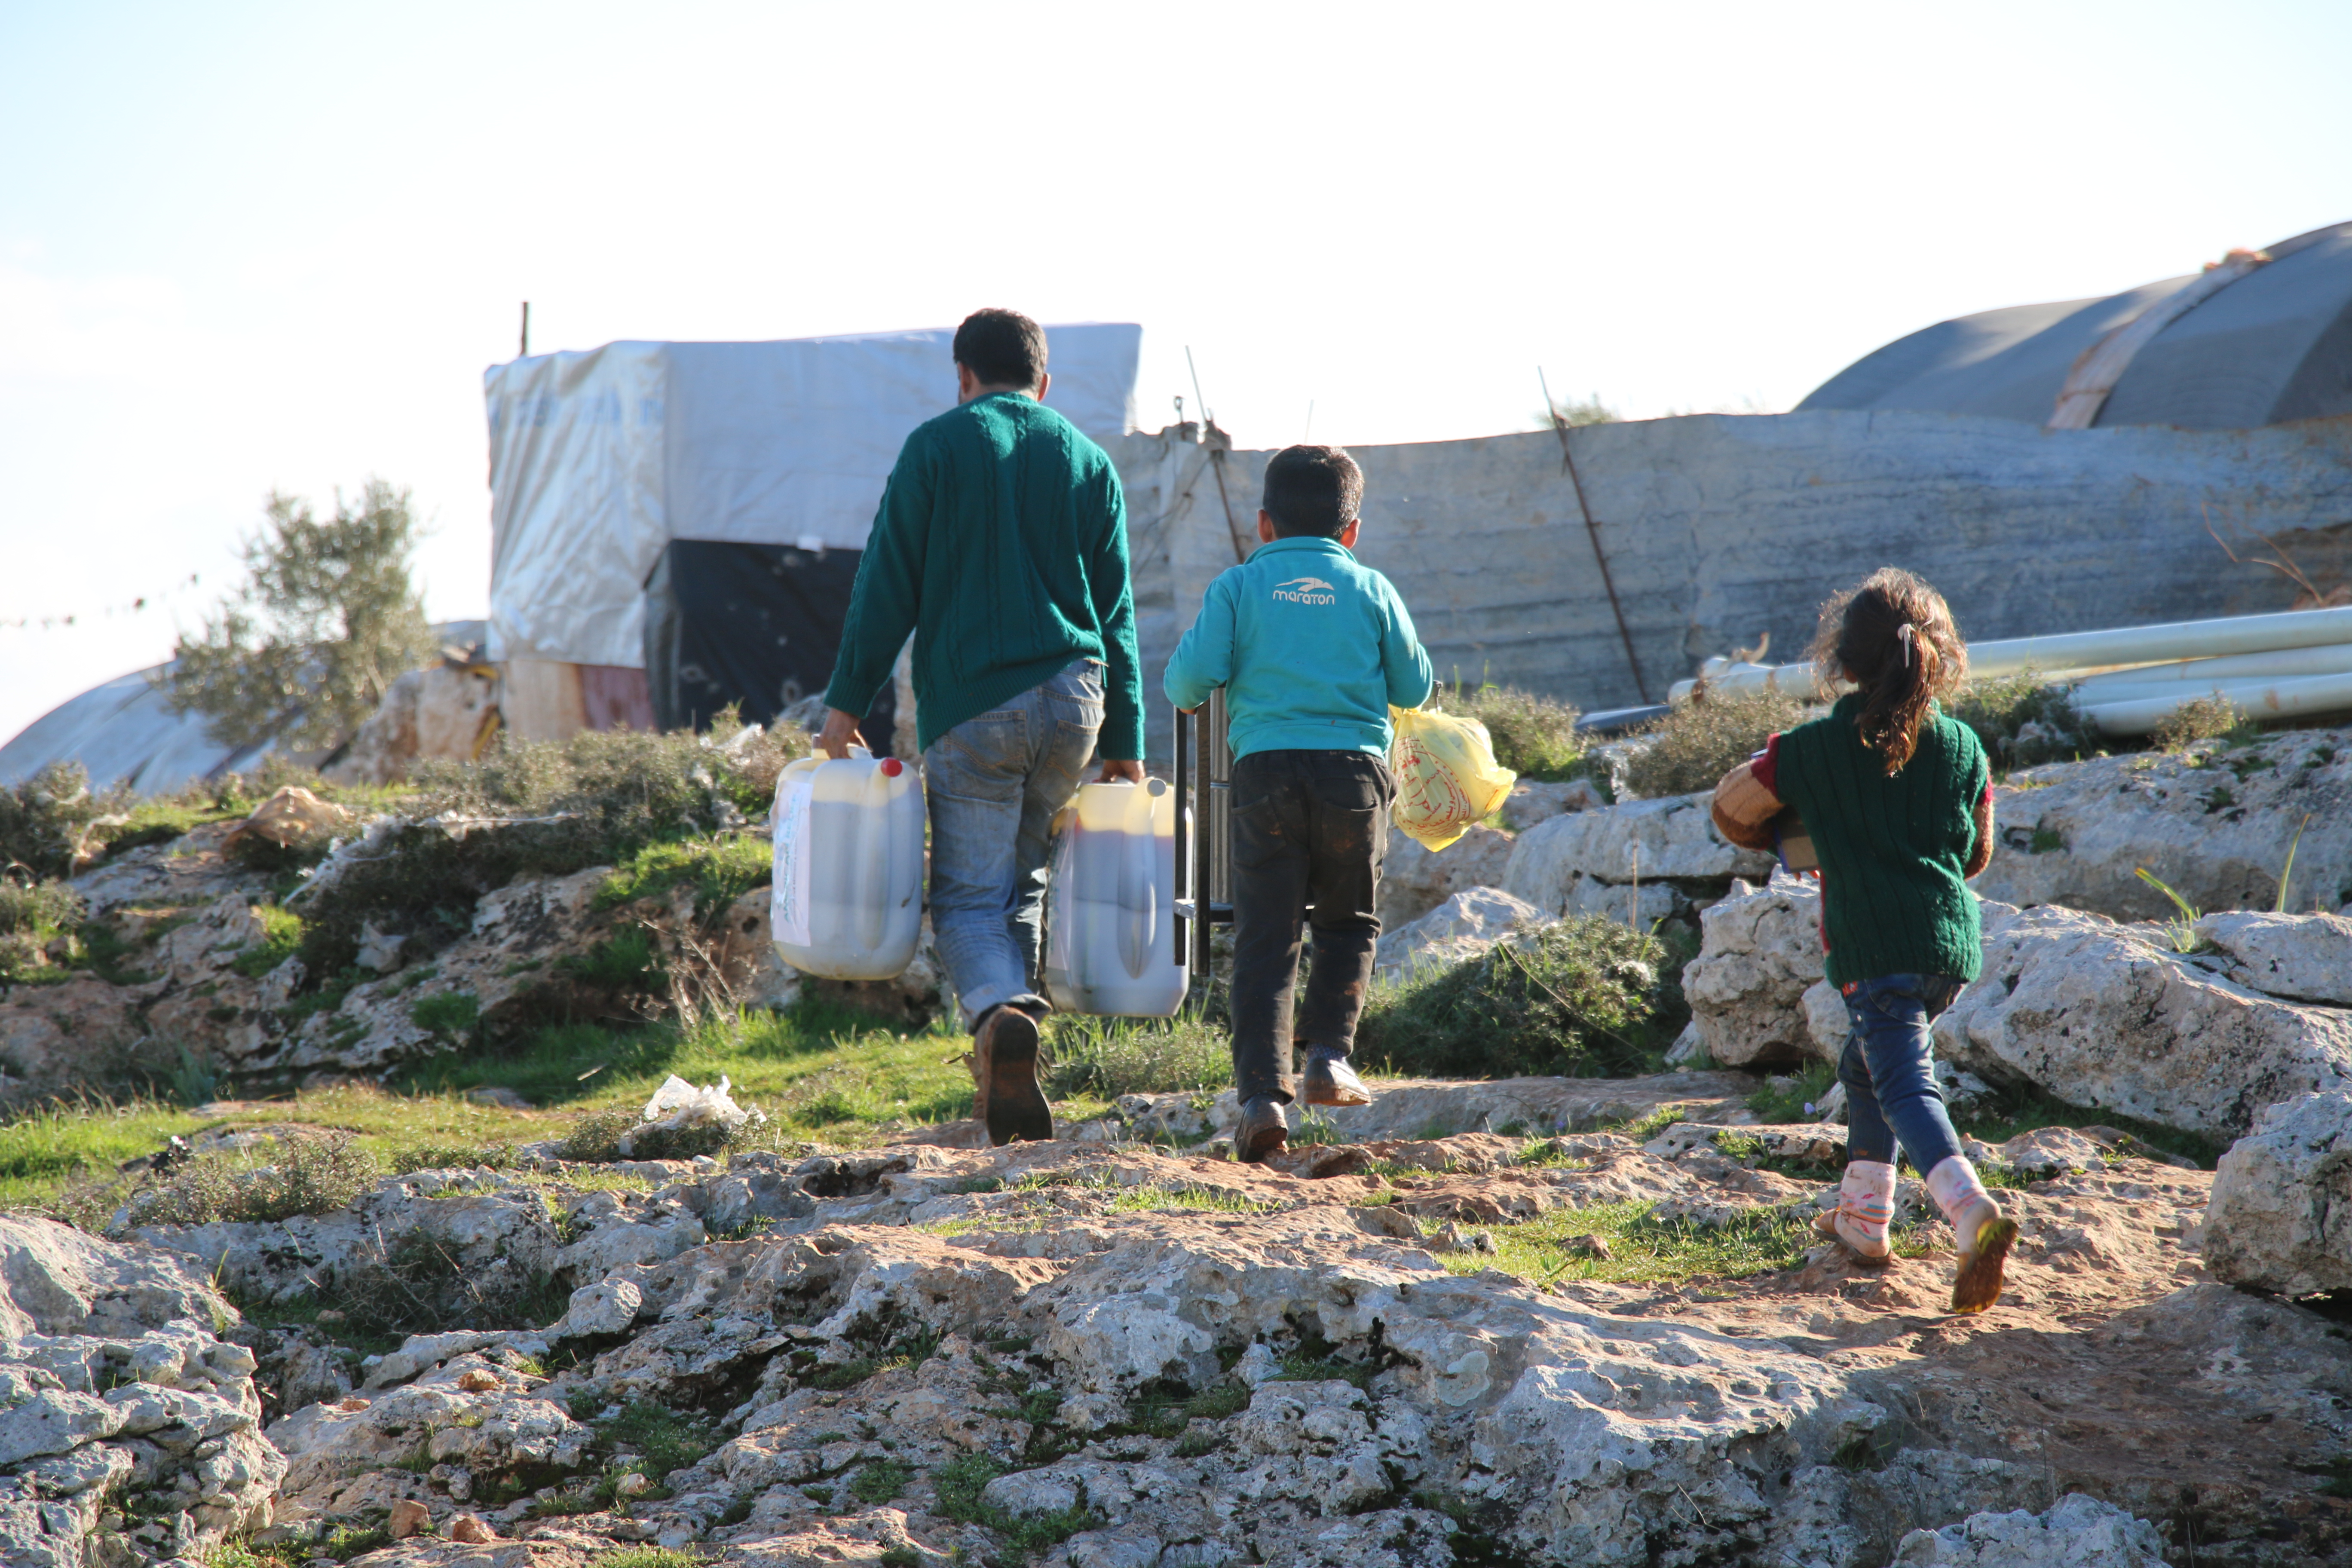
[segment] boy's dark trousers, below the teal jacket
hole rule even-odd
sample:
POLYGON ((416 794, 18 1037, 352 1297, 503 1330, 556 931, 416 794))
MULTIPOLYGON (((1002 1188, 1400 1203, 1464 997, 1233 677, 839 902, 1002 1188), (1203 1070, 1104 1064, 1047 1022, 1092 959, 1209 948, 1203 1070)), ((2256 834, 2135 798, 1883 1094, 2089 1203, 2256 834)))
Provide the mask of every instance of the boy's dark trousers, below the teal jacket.
POLYGON ((1242 1105, 1289 1100, 1291 1041, 1345 1056, 1381 940, 1381 856, 1397 783, 1371 752, 1251 752, 1232 764, 1232 1077, 1242 1105), (1315 931, 1308 994, 1298 924, 1315 931))

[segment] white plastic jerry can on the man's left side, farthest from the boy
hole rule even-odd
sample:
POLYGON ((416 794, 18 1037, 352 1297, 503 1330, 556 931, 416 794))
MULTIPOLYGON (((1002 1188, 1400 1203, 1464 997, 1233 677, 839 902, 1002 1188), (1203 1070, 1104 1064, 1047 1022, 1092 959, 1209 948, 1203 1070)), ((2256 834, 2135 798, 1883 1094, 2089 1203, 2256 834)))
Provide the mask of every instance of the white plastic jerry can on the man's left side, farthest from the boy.
POLYGON ((776 954, 828 980, 891 980, 922 936, 922 780, 896 757, 802 757, 776 778, 776 954))

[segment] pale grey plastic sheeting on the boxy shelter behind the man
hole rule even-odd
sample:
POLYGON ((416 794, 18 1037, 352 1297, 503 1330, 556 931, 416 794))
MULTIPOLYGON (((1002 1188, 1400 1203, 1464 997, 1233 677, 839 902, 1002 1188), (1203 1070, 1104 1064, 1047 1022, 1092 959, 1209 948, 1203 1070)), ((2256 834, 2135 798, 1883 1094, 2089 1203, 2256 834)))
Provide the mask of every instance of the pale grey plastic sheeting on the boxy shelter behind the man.
MULTIPOLYGON (((609 343, 494 364, 489 656, 644 663, 673 538, 863 550, 908 433, 955 407, 955 334, 609 343)), ((1047 327, 1047 407, 1134 423, 1134 324, 1047 327)))

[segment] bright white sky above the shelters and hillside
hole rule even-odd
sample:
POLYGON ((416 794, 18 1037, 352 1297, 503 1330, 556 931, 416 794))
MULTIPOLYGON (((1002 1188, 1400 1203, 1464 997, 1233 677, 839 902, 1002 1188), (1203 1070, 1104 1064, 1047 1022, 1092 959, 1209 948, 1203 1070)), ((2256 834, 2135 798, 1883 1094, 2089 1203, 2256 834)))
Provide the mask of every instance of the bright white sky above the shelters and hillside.
POLYGON ((414 487, 480 616, 522 299, 536 350, 1134 320, 1143 421, 1190 346, 1244 447, 1529 428, 1538 364, 1778 411, 2352 219, 2345 80, 2321 0, 0 0, 0 738, 162 661, 273 487, 414 487))

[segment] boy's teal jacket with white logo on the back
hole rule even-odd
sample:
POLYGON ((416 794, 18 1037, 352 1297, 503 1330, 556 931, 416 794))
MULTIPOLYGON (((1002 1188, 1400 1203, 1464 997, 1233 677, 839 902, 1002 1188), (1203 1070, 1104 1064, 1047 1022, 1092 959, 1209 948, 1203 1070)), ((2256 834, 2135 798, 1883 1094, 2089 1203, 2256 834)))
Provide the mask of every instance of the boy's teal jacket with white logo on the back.
POLYGON ((1209 583, 1162 686, 1178 708, 1223 686, 1235 757, 1385 757, 1388 708, 1430 698, 1430 656, 1390 581, 1343 543, 1277 538, 1209 583))

